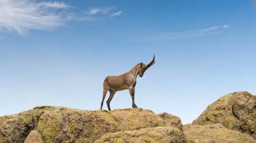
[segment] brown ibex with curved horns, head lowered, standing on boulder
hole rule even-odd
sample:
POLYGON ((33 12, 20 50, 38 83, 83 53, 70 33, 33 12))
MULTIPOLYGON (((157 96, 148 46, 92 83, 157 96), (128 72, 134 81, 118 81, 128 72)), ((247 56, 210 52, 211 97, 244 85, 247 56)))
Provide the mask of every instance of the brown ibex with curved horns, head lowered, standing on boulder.
POLYGON ((124 74, 118 76, 107 76, 103 82, 103 95, 100 110, 102 110, 103 102, 106 97, 107 92, 110 92, 109 98, 107 100, 108 111, 110 111, 110 101, 113 99, 116 91, 122 91, 129 89, 131 99, 132 99, 132 107, 137 108, 137 105, 134 101, 134 94, 135 94, 135 86, 136 86, 136 79, 139 75, 140 77, 143 76, 144 72, 151 67, 155 60, 155 54, 152 61, 149 64, 144 64, 142 62, 136 64, 129 72, 125 72, 124 74))

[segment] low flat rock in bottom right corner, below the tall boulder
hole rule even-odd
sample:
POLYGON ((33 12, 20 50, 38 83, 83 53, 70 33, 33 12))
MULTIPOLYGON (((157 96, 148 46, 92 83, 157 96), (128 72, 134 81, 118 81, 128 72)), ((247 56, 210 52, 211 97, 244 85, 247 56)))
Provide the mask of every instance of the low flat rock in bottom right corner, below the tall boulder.
POLYGON ((230 130, 221 124, 187 124, 183 126, 183 132, 195 143, 256 143, 248 134, 230 130))

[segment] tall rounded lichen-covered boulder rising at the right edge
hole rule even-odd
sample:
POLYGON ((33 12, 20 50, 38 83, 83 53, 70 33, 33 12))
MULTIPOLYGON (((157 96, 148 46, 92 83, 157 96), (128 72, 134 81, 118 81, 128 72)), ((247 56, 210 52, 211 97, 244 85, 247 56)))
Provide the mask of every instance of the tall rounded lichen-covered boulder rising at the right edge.
POLYGON ((256 99, 252 94, 234 92, 210 104, 192 124, 220 123, 226 128, 247 133, 256 139, 256 99))

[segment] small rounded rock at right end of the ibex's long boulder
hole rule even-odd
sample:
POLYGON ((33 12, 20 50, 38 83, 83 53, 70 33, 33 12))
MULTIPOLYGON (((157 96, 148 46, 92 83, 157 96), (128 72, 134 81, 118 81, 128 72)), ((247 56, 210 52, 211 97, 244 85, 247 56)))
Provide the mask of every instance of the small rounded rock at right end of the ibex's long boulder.
POLYGON ((182 121, 178 116, 172 115, 170 113, 159 113, 157 116, 164 119, 164 124, 166 126, 174 126, 182 130, 182 121))

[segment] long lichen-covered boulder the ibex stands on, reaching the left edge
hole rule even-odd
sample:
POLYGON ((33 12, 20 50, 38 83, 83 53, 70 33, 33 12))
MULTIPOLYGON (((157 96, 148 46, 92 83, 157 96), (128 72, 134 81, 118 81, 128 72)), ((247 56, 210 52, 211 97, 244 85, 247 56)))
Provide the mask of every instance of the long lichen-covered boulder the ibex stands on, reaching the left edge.
POLYGON ((0 143, 24 143, 32 130, 38 131, 44 143, 93 143, 106 133, 170 125, 141 108, 88 111, 38 106, 0 117, 0 143))

